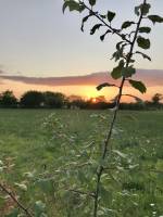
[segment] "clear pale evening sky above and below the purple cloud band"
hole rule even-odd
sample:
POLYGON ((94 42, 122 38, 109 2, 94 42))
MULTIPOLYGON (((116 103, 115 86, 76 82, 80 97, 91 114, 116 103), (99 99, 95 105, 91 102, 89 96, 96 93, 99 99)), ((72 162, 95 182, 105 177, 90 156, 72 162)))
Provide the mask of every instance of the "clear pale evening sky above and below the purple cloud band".
MULTIPOLYGON (((99 0, 98 8, 103 13, 116 11, 115 26, 130 20, 135 4, 141 0, 99 0), (121 23, 120 23, 121 22, 121 23)), ((151 14, 163 15, 163 0, 149 0, 151 14)), ((116 39, 99 40, 99 34, 80 31, 82 16, 77 13, 62 13, 62 0, 0 0, 0 69, 4 76, 0 80, 0 90, 13 89, 16 94, 27 89, 63 91, 67 94, 97 95, 95 85, 62 87, 25 84, 12 80, 12 76, 25 77, 68 77, 83 76, 111 71, 115 63, 110 60, 116 39), (72 89, 71 89, 72 88, 72 89), (87 94, 86 94, 87 93, 87 94)), ((163 69, 163 25, 153 27, 150 39, 152 47, 147 54, 152 62, 138 59, 137 68, 163 69)), ((146 78, 145 78, 146 79, 146 78)), ((150 87, 151 88, 151 87, 150 87)), ((153 86, 153 92, 163 92, 162 86, 153 86), (155 90, 154 90, 155 88, 155 90)), ((101 94, 101 93, 100 93, 101 94)), ((147 95, 149 98, 149 95, 147 95)))

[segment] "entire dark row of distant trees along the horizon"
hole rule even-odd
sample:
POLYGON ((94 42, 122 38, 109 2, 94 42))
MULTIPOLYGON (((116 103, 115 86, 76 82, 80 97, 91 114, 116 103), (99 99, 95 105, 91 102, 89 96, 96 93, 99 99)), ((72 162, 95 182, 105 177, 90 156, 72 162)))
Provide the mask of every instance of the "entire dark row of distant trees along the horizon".
MULTIPOLYGON (((155 93, 151 101, 140 101, 124 103, 120 105, 121 110, 155 110, 163 108, 163 95, 155 93)), ((104 95, 84 100, 79 95, 66 97, 61 92, 51 91, 26 91, 17 99, 13 91, 5 90, 0 93, 1 108, 82 108, 82 110, 105 110, 114 107, 114 100, 108 102, 104 95)))

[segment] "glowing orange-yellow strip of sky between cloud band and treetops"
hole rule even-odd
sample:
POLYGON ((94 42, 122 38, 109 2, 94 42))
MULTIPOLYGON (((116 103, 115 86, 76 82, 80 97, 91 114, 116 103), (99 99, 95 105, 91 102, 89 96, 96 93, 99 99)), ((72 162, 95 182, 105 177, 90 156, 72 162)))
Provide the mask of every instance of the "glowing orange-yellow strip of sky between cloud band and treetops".
MULTIPOLYGON (((29 85, 20 81, 11 81, 11 80, 0 80, 0 92, 5 90, 12 90, 14 94, 20 98, 25 91, 28 90, 38 90, 38 91, 52 91, 52 92, 62 92, 65 95, 79 95, 84 100, 93 99, 93 102, 97 102, 99 97, 104 97, 105 101, 111 101, 117 94, 117 90, 115 88, 103 88, 101 91, 96 89, 96 86, 42 86, 42 85, 29 85)), ((136 95, 142 100, 151 100, 154 93, 163 94, 163 87, 153 86, 148 87, 147 93, 141 94, 139 91, 133 89, 131 87, 125 87, 124 93, 129 93, 136 95)), ((123 97, 123 102, 134 102, 134 99, 129 97, 123 97)))

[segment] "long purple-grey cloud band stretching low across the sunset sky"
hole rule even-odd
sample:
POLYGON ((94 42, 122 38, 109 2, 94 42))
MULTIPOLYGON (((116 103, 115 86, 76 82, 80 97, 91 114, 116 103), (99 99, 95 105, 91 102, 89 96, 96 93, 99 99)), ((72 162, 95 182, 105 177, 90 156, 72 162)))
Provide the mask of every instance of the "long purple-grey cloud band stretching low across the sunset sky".
MULTIPOLYGON (((97 86, 101 82, 114 82, 109 72, 92 73, 83 76, 65 76, 65 77, 26 77, 4 75, 0 72, 2 79, 20 81, 28 85, 38 86, 97 86)), ((163 69, 137 69, 137 74, 133 77, 142 80, 148 87, 163 86, 163 69)), ((116 81, 117 84, 117 81, 116 81)))

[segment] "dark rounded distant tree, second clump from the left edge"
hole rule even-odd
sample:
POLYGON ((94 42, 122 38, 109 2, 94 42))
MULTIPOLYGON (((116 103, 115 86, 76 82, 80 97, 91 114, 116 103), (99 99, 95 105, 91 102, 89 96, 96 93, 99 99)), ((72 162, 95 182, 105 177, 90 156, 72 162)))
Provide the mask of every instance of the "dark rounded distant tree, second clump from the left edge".
POLYGON ((40 91, 30 90, 21 97, 20 104, 23 107, 40 107, 43 103, 43 94, 40 91))

